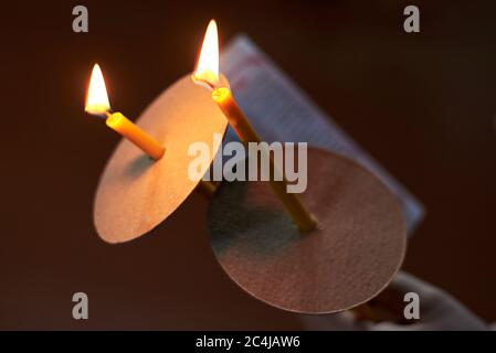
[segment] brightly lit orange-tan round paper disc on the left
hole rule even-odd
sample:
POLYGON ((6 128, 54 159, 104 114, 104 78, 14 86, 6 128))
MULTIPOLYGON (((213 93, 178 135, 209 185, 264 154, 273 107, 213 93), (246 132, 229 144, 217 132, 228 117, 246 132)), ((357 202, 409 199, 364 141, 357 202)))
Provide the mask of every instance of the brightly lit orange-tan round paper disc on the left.
MULTIPOLYGON (((224 84, 225 81, 224 81, 224 84)), ((123 139, 108 161, 94 206, 99 236, 108 243, 139 237, 166 220, 194 190, 199 180, 188 175, 193 142, 210 147, 210 162, 220 142, 213 133, 225 132, 228 120, 211 92, 186 76, 165 90, 136 124, 166 147, 154 161, 123 139)))

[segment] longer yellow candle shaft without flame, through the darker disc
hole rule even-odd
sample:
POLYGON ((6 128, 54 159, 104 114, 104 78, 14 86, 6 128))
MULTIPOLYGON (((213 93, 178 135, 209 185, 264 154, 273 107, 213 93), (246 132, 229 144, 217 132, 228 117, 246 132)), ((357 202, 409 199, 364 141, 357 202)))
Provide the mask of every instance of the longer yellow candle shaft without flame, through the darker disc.
MULTIPOLYGON (((234 100, 229 88, 221 87, 214 89, 212 93, 212 98, 224 113, 229 124, 243 142, 247 143, 262 141, 255 129, 244 116, 238 103, 234 100)), ((271 156, 270 163, 271 170, 273 170, 275 174, 275 168, 277 168, 277 165, 275 165, 271 156)), ((299 197, 296 194, 287 193, 287 180, 284 174, 282 181, 271 180, 271 185, 300 231, 309 232, 315 228, 316 221, 305 208, 299 197)))

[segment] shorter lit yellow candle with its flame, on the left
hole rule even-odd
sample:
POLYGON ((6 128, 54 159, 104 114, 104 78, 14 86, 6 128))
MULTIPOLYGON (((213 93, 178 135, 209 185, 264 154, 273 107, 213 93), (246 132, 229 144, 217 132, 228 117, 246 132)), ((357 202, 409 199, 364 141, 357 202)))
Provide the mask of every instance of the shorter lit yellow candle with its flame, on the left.
POLYGON ((139 147, 151 159, 159 160, 163 156, 166 149, 157 140, 141 130, 122 113, 110 113, 107 89, 98 64, 95 64, 93 67, 85 111, 97 116, 106 116, 106 124, 109 128, 139 147))

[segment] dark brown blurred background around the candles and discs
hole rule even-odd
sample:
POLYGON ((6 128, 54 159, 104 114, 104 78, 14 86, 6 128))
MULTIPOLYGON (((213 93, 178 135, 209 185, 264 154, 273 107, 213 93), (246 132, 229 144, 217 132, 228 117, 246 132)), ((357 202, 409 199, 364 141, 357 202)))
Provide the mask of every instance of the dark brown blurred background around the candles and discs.
POLYGON ((496 319, 496 6, 407 2, 85 1, 2 3, 0 329, 295 329, 295 315, 230 282, 198 194, 166 224, 110 246, 92 224, 117 143, 83 113, 94 62, 110 101, 136 117, 192 69, 210 18, 225 43, 247 33, 426 205, 405 269, 496 319), (17 4, 19 3, 19 4, 17 4), (72 295, 89 320, 72 319, 72 295))

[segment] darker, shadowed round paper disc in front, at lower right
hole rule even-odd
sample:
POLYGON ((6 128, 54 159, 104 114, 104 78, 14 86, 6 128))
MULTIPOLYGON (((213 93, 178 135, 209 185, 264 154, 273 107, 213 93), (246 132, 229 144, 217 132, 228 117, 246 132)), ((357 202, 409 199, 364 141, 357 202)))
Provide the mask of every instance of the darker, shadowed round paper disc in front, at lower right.
POLYGON ((255 298, 295 312, 336 312, 379 293, 405 252, 394 195, 356 162, 309 148, 308 186, 299 196, 318 221, 307 234, 268 182, 222 183, 210 203, 209 233, 225 272, 255 298))

